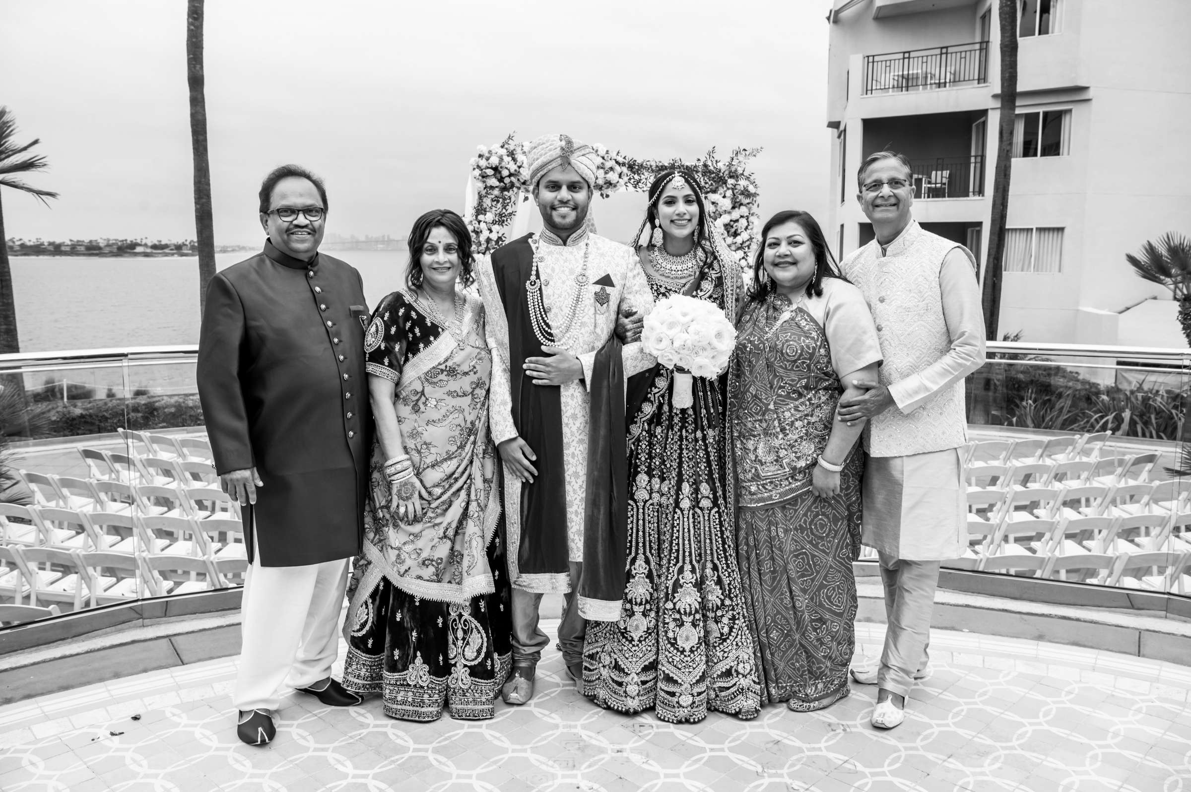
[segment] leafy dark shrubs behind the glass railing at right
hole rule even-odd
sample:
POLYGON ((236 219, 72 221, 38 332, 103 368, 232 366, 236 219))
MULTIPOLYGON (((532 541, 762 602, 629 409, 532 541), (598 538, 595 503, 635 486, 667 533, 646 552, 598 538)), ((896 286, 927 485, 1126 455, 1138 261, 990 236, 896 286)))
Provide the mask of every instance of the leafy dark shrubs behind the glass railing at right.
POLYGON ((1177 441, 1187 409, 1184 389, 1123 388, 1086 380, 1062 366, 1015 366, 993 360, 1048 358, 990 355, 967 382, 968 422, 1067 432, 1110 431, 1123 437, 1177 441))

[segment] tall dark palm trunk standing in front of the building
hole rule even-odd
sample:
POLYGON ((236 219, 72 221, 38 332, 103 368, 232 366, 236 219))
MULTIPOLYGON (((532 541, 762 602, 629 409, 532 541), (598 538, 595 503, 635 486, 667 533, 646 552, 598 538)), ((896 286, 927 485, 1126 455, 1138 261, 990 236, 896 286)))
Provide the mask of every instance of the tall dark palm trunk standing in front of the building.
POLYGON ((1000 123, 997 125, 997 164, 992 176, 992 217, 984 268, 984 326, 986 338, 998 338, 1000 275, 1004 272, 1005 222, 1009 218, 1009 175, 1014 163, 1014 119, 1017 114, 1017 0, 999 0, 1000 123))

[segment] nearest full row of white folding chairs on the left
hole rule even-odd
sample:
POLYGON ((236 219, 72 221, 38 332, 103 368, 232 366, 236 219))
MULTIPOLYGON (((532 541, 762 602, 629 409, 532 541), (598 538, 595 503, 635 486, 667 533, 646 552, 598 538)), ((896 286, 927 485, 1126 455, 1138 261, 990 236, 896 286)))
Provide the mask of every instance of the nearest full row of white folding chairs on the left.
POLYGON ((247 559, 0 545, 0 600, 71 610, 243 585, 247 559))

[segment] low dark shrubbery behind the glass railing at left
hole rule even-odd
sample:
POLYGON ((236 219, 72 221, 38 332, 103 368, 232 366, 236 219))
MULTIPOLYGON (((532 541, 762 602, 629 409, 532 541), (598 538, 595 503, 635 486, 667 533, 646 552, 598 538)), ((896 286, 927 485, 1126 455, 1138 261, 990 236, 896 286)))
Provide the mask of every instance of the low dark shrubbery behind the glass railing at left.
POLYGON ((105 435, 117 429, 150 431, 202 425, 202 407, 197 393, 89 399, 42 404, 38 407, 46 413, 48 437, 105 435))

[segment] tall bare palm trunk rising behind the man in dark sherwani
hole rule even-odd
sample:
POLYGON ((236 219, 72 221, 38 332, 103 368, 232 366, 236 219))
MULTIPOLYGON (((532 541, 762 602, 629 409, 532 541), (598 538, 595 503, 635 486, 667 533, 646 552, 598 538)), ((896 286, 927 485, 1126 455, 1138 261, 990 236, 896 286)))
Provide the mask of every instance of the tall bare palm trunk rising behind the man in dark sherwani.
POLYGON ((194 230, 199 241, 199 311, 216 276, 216 231, 211 219, 211 162, 207 157, 207 100, 202 73, 202 0, 186 4, 186 85, 191 91, 191 155, 194 160, 194 230))

